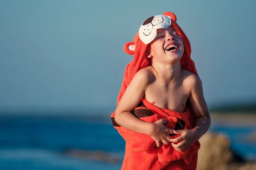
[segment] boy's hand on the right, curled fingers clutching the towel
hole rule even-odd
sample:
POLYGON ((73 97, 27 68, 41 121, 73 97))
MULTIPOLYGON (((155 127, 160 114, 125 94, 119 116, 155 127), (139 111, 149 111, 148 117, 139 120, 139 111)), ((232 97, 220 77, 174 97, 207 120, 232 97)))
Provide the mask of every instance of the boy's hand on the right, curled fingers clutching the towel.
POLYGON ((181 134, 179 137, 175 139, 170 139, 172 142, 172 147, 180 152, 187 150, 197 139, 194 130, 185 129, 185 130, 174 130, 176 135, 181 134), (179 142, 178 144, 174 144, 179 142))

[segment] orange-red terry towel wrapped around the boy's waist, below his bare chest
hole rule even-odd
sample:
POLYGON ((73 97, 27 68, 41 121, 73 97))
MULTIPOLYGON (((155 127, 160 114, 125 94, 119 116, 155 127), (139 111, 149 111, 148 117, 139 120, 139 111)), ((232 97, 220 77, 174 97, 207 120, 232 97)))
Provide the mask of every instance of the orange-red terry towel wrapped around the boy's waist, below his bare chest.
MULTIPOLYGON (((192 129, 193 115, 187 107, 186 111, 179 113, 169 109, 160 109, 152 105, 145 98, 134 110, 133 114, 145 122, 155 122, 159 119, 167 119, 166 127, 175 130, 192 129)), ((114 127, 118 130, 121 136, 125 139, 125 158, 122 165, 122 170, 161 170, 164 167, 169 167, 174 164, 177 168, 183 167, 186 170, 195 170, 197 159, 197 151, 200 148, 200 143, 196 141, 184 152, 175 150, 171 143, 168 145, 162 144, 161 147, 156 147, 156 142, 148 135, 127 130, 114 122, 114 127), (177 160, 179 161, 177 164, 177 160), (192 163, 191 163, 192 162, 192 163)), ((174 135, 177 138, 180 135, 174 135)), ((176 169, 177 169, 176 168, 176 169)), ((180 170, 182 170, 180 168, 180 170)), ((178 170, 178 169, 177 169, 178 170)))

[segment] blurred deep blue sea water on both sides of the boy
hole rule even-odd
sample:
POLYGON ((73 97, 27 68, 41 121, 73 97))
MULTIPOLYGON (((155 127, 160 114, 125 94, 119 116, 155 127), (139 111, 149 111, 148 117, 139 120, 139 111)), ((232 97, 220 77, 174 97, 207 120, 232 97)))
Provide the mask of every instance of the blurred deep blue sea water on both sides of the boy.
MULTIPOLYGON (((110 120, 110 119, 109 119, 110 120)), ((231 147, 244 159, 256 158, 256 144, 244 142, 255 127, 212 125, 225 133, 231 147)), ((0 170, 120 170, 125 141, 111 122, 101 119, 9 116, 0 118, 0 170), (115 163, 65 154, 69 149, 104 151, 119 158, 115 163)))

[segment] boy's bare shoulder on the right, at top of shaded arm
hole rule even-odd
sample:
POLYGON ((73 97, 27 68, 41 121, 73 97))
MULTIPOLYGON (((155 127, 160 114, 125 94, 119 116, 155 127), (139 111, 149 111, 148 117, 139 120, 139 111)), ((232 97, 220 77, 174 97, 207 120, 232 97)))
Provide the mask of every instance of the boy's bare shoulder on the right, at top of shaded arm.
POLYGON ((182 70, 183 82, 186 86, 194 88, 197 85, 201 85, 201 80, 199 77, 187 70, 182 70))

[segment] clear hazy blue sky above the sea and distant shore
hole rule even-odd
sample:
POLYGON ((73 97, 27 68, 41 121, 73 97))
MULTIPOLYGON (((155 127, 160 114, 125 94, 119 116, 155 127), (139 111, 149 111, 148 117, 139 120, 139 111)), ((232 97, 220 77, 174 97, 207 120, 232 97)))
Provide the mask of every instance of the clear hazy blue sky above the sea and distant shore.
POLYGON ((209 107, 256 99, 256 1, 0 1, 0 108, 115 107, 123 45, 172 11, 209 107))

